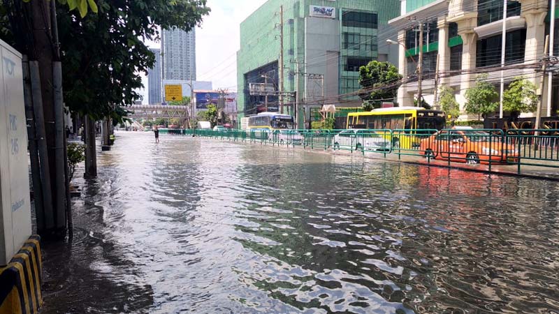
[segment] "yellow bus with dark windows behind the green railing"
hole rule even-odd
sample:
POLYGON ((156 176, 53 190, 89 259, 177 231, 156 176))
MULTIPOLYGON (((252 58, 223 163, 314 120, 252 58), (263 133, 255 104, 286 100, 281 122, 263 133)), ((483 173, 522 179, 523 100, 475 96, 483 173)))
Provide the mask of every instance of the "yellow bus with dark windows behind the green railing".
POLYGON ((447 115, 422 107, 391 107, 347 115, 347 128, 394 130, 394 147, 419 147, 421 139, 447 126, 447 115))

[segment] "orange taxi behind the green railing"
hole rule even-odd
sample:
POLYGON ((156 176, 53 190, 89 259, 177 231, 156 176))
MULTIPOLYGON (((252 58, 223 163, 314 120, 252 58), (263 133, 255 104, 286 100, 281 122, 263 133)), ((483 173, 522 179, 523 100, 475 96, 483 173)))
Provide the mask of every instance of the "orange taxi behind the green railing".
POLYGON ((519 158, 518 149, 504 137, 484 130, 454 128, 441 130, 421 141, 426 158, 479 163, 511 163, 519 158))

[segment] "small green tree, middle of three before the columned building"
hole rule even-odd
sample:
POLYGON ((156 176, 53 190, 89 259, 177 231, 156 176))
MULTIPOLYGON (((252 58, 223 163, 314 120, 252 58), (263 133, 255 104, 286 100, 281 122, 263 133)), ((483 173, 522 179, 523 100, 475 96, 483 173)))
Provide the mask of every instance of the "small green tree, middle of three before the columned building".
MULTIPOLYGON (((487 82, 488 75, 479 75, 474 87, 466 90, 465 110, 469 114, 477 114, 478 117, 486 117, 497 110, 499 104, 495 99, 499 96, 493 84, 487 82)), ((479 119, 479 118, 478 118, 479 119)), ((480 119, 481 120, 481 119, 480 119)))

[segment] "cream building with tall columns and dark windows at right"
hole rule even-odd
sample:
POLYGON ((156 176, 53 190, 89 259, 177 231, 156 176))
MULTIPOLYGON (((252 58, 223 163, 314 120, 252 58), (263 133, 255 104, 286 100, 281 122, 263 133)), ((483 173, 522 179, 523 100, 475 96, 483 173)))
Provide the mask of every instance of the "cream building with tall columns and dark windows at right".
MULTIPOLYGON (((506 57, 505 66, 501 68, 503 11, 503 1, 495 0, 402 0, 400 17, 389 22, 398 31, 400 73, 404 77, 416 75, 419 54, 417 30, 422 23, 423 77, 426 79, 422 87, 427 103, 435 103, 435 86, 446 85, 455 91, 463 113, 461 118, 467 119, 465 92, 474 86, 480 73, 488 74, 488 81, 495 84, 498 91, 501 70, 505 89, 518 76, 539 87, 544 77, 539 69, 545 57, 546 34, 549 33, 549 3, 547 0, 508 1, 506 57), (435 82, 437 58, 439 80, 435 82)), ((558 41, 553 47, 555 55, 558 41)), ((553 83, 552 101, 547 99, 547 85, 538 89, 538 94, 543 95, 542 117, 556 114, 558 110, 559 84, 553 83)), ((416 80, 407 81, 398 91, 398 103, 401 106, 413 105, 417 91, 416 80)), ((507 114, 504 112, 504 117, 507 114)), ((499 115, 500 110, 497 110, 494 116, 499 115)))

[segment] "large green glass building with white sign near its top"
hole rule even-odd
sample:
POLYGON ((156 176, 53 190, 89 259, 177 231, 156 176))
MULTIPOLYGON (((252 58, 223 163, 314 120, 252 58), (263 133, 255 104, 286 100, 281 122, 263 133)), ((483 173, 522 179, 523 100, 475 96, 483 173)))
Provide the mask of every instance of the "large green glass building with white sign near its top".
MULTIPOLYGON (((249 84, 266 82, 279 90, 280 8, 283 86, 284 91, 298 91, 299 123, 310 116, 311 107, 361 105, 338 95, 360 89, 359 67, 389 60, 391 53, 379 53, 378 38, 389 32, 388 21, 400 15, 400 0, 268 0, 240 24, 239 119, 279 110, 277 96, 266 101, 265 96, 251 95, 249 84)), ((293 115, 295 103, 295 98, 284 98, 284 113, 293 115)))

